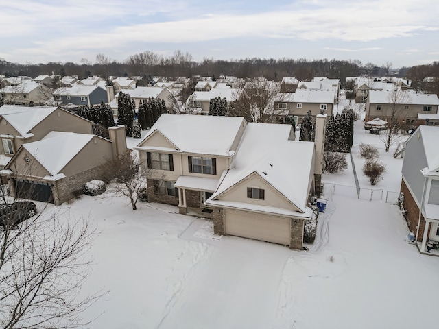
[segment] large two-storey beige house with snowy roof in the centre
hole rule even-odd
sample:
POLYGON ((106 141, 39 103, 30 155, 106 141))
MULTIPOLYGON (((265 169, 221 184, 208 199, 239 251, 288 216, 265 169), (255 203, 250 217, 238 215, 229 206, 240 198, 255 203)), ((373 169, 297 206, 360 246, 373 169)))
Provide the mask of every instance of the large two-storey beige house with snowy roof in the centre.
MULTIPOLYGON (((316 133, 321 142, 322 122, 316 133)), ((134 149, 146 164, 150 202, 213 217, 218 234, 302 249, 305 221, 312 215, 309 197, 320 186, 317 155, 321 158, 323 145, 293 139, 291 125, 162 114, 134 149)))

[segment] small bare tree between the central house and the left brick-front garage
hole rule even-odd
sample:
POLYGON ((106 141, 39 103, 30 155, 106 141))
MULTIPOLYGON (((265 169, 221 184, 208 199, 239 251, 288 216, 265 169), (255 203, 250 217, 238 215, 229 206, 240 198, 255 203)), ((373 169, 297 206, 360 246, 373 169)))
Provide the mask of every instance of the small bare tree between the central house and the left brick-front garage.
POLYGON ((108 180, 113 180, 113 184, 108 189, 116 195, 128 197, 132 210, 137 210, 137 201, 139 200, 139 191, 146 186, 145 178, 139 173, 138 153, 126 152, 119 155, 114 160, 108 161, 108 180))

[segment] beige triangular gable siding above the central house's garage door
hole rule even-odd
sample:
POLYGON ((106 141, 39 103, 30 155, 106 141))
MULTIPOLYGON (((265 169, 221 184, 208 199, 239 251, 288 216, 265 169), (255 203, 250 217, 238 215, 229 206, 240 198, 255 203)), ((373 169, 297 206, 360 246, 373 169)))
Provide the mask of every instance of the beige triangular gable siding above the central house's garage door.
POLYGON ((272 186, 262 180, 259 175, 252 174, 242 182, 239 182, 229 191, 226 191, 218 199, 222 201, 244 202, 246 204, 255 204, 259 206, 270 206, 276 208, 284 208, 293 211, 298 211, 291 202, 289 202, 283 195, 278 193, 272 186), (247 197, 247 188, 257 187, 265 190, 265 199, 252 199, 247 197))

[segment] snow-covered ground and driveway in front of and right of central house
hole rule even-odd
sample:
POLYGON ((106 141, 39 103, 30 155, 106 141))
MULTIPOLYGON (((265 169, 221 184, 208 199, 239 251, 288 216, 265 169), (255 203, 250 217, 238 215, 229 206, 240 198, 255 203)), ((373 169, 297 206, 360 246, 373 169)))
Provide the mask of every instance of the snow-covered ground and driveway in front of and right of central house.
MULTIPOLYGON (((399 191, 400 159, 355 123, 355 145, 374 143, 388 173, 375 188, 399 191)), ((353 156, 362 188, 358 150, 353 156)), ((348 159, 350 162, 350 159, 348 159)), ((351 164, 325 182, 355 186, 351 164)), ((396 206, 356 195, 326 195, 316 243, 307 252, 214 236, 204 219, 178 208, 82 196, 71 215, 100 231, 84 293, 108 289, 85 317, 93 329, 143 328, 420 328, 436 323, 439 258, 407 243, 396 206)))

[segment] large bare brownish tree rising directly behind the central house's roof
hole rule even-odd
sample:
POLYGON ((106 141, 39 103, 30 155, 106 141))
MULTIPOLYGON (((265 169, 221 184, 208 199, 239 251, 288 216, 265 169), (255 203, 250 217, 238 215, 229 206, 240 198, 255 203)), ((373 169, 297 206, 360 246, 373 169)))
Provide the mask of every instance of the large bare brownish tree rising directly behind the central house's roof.
POLYGON ((275 109, 274 102, 285 93, 279 93, 281 86, 259 77, 246 81, 244 88, 237 90, 230 102, 229 114, 233 117, 244 117, 248 122, 272 122, 275 109))

